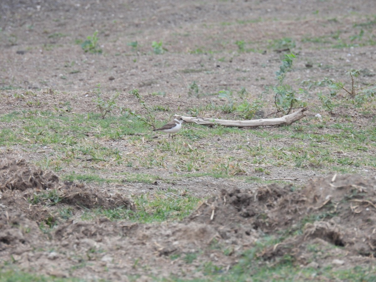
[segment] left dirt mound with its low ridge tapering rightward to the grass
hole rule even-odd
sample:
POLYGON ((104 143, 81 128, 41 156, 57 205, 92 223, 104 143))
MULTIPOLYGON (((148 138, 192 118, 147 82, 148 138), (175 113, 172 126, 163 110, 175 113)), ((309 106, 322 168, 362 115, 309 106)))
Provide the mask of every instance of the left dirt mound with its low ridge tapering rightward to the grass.
POLYGON ((126 197, 100 191, 83 183, 60 182, 52 171, 29 164, 25 159, 3 157, 0 161, 0 211, 25 212, 38 222, 55 221, 57 203, 74 209, 127 207, 133 203, 126 197))

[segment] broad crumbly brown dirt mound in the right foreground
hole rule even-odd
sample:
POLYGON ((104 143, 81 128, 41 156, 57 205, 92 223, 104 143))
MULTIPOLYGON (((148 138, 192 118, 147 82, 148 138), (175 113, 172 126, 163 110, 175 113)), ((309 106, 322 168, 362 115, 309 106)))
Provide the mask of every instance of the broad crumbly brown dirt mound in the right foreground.
MULTIPOLYGON (((275 184, 248 192, 222 191, 200 206, 189 220, 229 226, 246 223, 263 233, 279 233, 282 238, 300 233, 260 255, 267 260, 289 255, 305 265, 311 261, 307 247, 312 244, 342 247, 342 255, 373 258, 375 215, 375 177, 336 174, 314 180, 297 191, 291 185, 275 184)), ((236 232, 239 227, 232 230, 236 232)), ((340 251, 336 252, 338 255, 340 251)))

